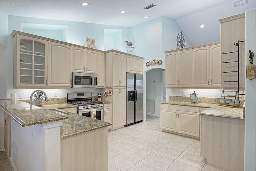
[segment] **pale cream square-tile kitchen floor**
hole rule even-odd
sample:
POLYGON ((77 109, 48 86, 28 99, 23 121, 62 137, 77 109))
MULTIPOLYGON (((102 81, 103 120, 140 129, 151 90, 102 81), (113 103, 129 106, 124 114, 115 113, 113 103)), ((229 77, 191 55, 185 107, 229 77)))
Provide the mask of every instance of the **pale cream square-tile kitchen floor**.
POLYGON ((224 171, 206 164, 200 140, 166 133, 160 117, 108 132, 108 171, 224 171))

